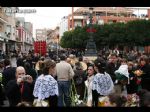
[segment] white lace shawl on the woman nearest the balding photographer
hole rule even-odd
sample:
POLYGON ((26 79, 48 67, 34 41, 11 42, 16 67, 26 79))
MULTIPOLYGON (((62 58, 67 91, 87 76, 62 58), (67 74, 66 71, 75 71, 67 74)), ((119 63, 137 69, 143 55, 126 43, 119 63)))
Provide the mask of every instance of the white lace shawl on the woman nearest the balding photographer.
POLYGON ((41 75, 35 82, 34 97, 43 100, 49 96, 58 96, 58 83, 51 75, 41 75))

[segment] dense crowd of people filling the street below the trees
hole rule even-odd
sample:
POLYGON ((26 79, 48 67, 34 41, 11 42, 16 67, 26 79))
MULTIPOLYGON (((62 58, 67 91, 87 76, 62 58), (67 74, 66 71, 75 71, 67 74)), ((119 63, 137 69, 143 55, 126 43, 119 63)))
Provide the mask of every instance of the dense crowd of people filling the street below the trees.
POLYGON ((17 67, 0 61, 0 105, 24 107, 150 106, 150 57, 118 50, 100 52, 95 60, 61 52, 19 54, 17 67))

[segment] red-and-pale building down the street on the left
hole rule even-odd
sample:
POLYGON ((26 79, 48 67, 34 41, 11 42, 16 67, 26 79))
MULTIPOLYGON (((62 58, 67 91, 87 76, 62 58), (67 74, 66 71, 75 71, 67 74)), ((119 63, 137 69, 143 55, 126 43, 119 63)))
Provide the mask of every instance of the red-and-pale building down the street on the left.
POLYGON ((33 49, 33 25, 24 17, 16 18, 16 43, 17 50, 24 53, 33 49))

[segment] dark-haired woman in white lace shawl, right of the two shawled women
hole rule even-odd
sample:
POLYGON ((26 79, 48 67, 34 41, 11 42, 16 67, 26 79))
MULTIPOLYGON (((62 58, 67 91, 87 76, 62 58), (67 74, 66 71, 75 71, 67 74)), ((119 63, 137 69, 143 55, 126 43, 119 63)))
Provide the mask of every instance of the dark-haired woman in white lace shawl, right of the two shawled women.
POLYGON ((102 59, 96 59, 94 61, 94 69, 97 74, 94 76, 92 84, 92 97, 93 106, 97 107, 99 98, 104 97, 112 93, 114 84, 106 70, 106 62, 102 59))

